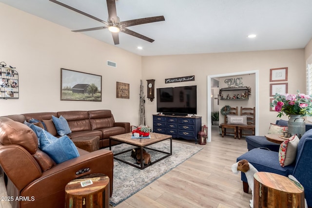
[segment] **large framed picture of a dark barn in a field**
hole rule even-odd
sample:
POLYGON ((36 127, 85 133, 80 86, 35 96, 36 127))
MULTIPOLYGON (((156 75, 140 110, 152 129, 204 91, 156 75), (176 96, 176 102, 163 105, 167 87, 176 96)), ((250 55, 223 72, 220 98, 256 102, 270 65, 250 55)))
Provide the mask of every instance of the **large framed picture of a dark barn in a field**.
POLYGON ((60 69, 60 100, 102 101, 102 76, 60 69))

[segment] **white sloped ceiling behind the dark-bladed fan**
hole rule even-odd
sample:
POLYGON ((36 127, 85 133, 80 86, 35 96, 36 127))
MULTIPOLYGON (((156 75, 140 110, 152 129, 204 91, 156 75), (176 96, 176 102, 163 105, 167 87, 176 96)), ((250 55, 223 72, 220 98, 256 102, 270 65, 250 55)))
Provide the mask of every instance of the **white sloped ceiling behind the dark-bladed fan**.
MULTIPOLYGON (((59 0, 107 20, 106 0, 59 0)), ((0 0, 69 30, 104 26, 49 0, 0 0)), ((118 48, 141 56, 304 48, 312 38, 312 0, 117 0, 120 21, 165 17, 128 27, 153 43, 119 33, 118 48), (256 34, 254 39, 247 35, 256 34), (138 50, 137 46, 143 47, 138 50)), ((107 30, 85 35, 114 45, 107 30)))

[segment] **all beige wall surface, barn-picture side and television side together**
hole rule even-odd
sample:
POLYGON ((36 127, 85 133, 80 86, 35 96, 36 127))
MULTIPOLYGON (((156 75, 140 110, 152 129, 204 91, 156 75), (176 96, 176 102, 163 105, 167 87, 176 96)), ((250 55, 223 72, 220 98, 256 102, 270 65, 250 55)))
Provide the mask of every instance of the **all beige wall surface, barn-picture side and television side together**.
MULTIPOLYGON (((139 83, 156 79, 156 88, 197 85, 197 115, 207 123, 207 76, 259 71, 259 134, 276 113, 269 111, 270 69, 288 67, 288 90, 305 92, 306 49, 140 57, 0 3, 0 61, 17 67, 20 98, 0 100, 0 115, 42 111, 111 109, 118 121, 137 124, 139 83), (117 62, 117 68, 106 61, 117 62), (60 101, 60 68, 102 76, 102 102, 60 101), (195 81, 165 84, 165 78, 195 75, 195 81), (130 84, 130 99, 116 98, 116 82, 130 84)), ((146 95, 146 94, 145 94, 146 95)), ((152 125, 156 100, 146 99, 152 125)), ((287 119, 287 118, 286 118, 287 119)))

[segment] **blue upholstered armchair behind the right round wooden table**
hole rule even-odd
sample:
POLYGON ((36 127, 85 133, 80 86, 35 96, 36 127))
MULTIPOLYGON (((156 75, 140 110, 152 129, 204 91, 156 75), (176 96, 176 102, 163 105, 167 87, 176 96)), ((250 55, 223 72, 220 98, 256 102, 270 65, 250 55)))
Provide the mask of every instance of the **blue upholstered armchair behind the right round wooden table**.
MULTIPOLYGON (((289 166, 281 167, 278 152, 255 148, 237 157, 236 161, 246 159, 258 171, 273 172, 288 177, 293 175, 304 187, 305 198, 308 206, 312 207, 312 129, 305 132, 300 138, 296 160, 289 166)), ((241 173, 244 192, 248 193, 249 187, 245 173, 241 173)))

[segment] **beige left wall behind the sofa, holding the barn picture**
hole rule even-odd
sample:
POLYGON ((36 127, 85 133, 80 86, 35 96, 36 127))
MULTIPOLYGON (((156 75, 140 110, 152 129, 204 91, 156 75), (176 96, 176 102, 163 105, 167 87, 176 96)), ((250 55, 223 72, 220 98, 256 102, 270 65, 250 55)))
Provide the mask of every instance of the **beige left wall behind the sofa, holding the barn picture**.
POLYGON ((116 121, 137 124, 140 56, 5 4, 0 9, 0 61, 16 67, 20 82, 20 98, 0 99, 0 115, 110 109, 116 121), (60 68, 101 75, 102 101, 61 101, 60 68), (130 84, 130 99, 116 98, 117 81, 130 84))

